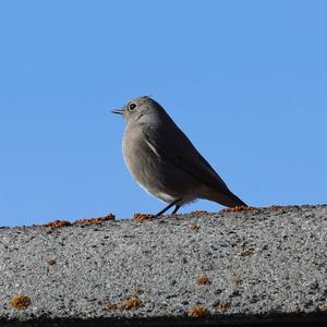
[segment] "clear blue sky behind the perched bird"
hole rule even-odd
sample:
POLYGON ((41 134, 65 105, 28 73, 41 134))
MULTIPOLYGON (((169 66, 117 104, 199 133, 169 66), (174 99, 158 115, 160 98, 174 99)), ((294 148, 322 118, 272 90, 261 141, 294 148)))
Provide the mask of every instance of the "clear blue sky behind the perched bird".
POLYGON ((110 113, 141 95, 250 205, 326 203, 326 12, 300 0, 1 1, 0 226, 160 210, 129 174, 110 113))

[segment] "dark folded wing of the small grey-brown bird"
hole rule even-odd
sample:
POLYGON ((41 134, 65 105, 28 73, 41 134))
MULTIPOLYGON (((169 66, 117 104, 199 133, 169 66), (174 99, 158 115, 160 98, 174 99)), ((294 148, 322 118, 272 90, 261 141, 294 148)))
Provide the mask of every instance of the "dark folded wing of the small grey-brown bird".
POLYGON ((197 152, 187 136, 177 125, 174 128, 178 130, 169 131, 165 128, 161 131, 158 129, 144 129, 145 141, 152 150, 214 190, 223 193, 230 192, 222 179, 197 152))

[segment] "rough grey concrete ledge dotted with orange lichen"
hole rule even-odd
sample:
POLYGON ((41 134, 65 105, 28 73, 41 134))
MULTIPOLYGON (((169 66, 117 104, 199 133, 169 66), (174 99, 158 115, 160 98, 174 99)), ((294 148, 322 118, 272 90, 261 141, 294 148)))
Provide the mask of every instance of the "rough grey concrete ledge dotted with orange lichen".
POLYGON ((326 205, 1 228, 0 325, 327 323, 326 244, 326 205))

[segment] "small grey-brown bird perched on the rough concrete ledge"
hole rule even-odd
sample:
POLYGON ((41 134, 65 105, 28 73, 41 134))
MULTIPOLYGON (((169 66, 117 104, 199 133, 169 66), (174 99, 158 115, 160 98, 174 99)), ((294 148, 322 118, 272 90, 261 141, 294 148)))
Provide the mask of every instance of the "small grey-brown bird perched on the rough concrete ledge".
POLYGON ((153 98, 142 96, 111 112, 125 120, 122 140, 124 162, 136 182, 149 194, 172 206, 197 198, 226 207, 247 205, 234 195, 167 111, 153 98))

